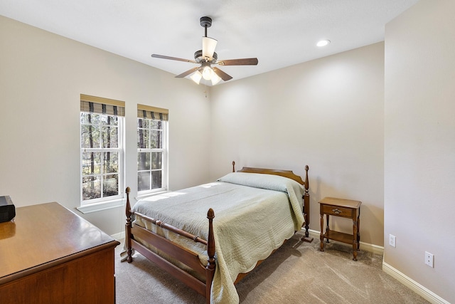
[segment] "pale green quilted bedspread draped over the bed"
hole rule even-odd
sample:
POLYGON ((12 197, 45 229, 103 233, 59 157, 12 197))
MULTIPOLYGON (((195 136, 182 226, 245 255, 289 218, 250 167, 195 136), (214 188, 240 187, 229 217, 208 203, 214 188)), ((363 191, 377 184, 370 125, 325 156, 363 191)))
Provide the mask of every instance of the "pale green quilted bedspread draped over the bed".
MULTIPOLYGON (((206 216, 212 208, 217 265, 211 303, 238 303, 237 275, 251 271, 304 224, 303 194, 304 188, 286 177, 235 172, 217 182, 141 199, 133 210, 207 240, 206 216)), ((152 229, 139 217, 135 224, 152 229)), ((207 263, 200 243, 159 227, 156 231, 200 253, 200 261, 207 263)))

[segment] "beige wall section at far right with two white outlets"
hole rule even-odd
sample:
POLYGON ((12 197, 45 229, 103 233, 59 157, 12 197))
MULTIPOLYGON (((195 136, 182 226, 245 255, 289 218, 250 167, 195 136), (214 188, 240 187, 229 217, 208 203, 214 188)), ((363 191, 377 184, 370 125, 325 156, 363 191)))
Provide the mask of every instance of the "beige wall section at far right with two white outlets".
POLYGON ((455 1, 421 0, 385 33, 384 261, 449 303, 455 303, 454 11, 455 1), (434 254, 434 268, 424 264, 425 251, 434 254))

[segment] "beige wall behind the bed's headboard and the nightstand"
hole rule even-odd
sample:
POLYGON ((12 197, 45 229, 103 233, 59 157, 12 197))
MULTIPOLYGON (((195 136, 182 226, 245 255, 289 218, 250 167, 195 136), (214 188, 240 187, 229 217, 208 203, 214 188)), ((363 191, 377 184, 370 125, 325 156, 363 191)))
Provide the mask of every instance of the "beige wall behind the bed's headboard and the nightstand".
POLYGON ((383 43, 213 87, 211 178, 232 160, 302 176, 308 164, 310 228, 321 230, 323 196, 357 199, 361 241, 382 246, 383 90, 383 43))

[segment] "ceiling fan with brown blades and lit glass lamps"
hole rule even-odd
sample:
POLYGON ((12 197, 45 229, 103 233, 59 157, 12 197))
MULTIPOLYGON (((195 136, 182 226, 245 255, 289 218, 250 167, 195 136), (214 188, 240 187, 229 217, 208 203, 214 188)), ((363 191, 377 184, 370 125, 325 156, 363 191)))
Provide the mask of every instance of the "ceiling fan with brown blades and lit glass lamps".
POLYGON ((215 47, 218 41, 213 38, 207 37, 207 28, 212 26, 212 19, 210 17, 201 17, 200 26, 205 28, 205 36, 202 38, 202 50, 196 51, 194 53, 194 60, 176 58, 164 55, 152 54, 153 58, 168 59, 173 61, 185 61, 190 63, 200 64, 196 68, 191 68, 186 72, 176 75, 176 78, 183 78, 190 74, 191 79, 194 82, 200 83, 200 79, 204 78, 205 80, 211 80, 212 85, 218 83, 221 79, 228 81, 232 79, 232 76, 223 72, 219 68, 212 67, 212 65, 257 65, 257 58, 240 58, 240 59, 228 59, 223 61, 218 61, 218 54, 215 53, 215 47))

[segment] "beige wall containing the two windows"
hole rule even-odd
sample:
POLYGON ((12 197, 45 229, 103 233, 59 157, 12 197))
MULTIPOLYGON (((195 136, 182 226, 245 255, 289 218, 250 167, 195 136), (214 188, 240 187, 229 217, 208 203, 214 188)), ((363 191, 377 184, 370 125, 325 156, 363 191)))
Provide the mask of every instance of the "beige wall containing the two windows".
MULTIPOLYGON (((16 206, 79 206, 80 93, 126 102, 132 196, 137 103, 169 109, 170 188, 208 182, 210 103, 190 80, 2 16, 0 54, 0 195, 16 206)), ((124 227, 122 208, 84 217, 108 234, 124 227)))

